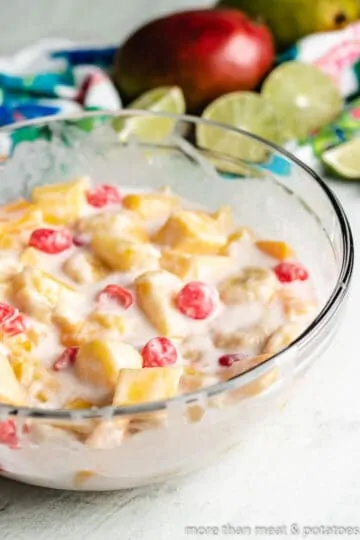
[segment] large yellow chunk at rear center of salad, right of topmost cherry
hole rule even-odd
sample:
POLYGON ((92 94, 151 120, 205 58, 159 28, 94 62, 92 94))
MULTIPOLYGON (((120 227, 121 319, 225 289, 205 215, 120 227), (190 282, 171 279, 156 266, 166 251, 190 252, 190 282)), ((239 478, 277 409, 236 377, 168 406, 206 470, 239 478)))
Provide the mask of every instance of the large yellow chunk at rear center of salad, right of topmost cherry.
POLYGON ((197 255, 216 255, 226 244, 227 234, 222 222, 205 212, 179 210, 155 234, 158 244, 197 255))

